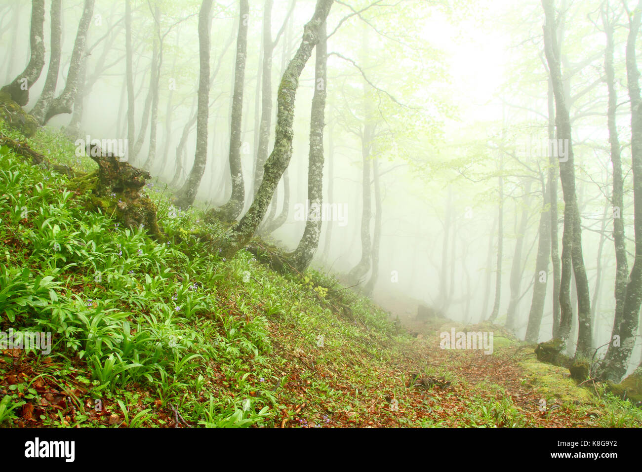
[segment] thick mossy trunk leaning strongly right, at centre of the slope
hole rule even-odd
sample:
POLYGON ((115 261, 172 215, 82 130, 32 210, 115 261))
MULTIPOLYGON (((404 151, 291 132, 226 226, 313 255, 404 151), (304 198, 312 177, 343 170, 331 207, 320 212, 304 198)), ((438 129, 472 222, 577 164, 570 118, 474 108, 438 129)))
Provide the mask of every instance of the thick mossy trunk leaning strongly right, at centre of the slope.
POLYGON ((232 230, 231 242, 223 252, 227 256, 232 256, 239 249, 247 245, 261 220, 265 216, 265 211, 270 204, 270 199, 274 193, 283 171, 290 164, 292 156, 292 138, 293 138, 293 120, 295 95, 299 87, 299 78, 303 68, 306 66, 312 49, 319 41, 318 28, 327 18, 333 0, 317 0, 317 6, 312 19, 304 27, 303 38, 297 53, 294 55, 279 86, 277 101, 277 125, 274 149, 272 154, 265 163, 265 175, 259 187, 259 191, 254 198, 254 202, 248 209, 247 213, 241 218, 241 221, 234 226, 232 230))

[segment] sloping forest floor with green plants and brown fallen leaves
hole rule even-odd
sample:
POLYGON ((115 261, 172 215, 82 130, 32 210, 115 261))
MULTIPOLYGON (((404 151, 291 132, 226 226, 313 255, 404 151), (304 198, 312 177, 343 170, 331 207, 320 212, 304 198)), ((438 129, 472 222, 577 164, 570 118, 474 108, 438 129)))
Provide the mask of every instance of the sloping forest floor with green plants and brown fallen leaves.
MULTIPOLYGON (((30 146, 94 169, 60 134, 30 146)), ((400 325, 327 274, 225 260, 196 236, 222 227, 146 192, 166 241, 0 149, 0 331, 53 333, 50 353, 1 349, 1 426, 642 426, 640 408, 498 326, 400 325), (440 349, 451 328, 492 331, 492 354, 440 349)))

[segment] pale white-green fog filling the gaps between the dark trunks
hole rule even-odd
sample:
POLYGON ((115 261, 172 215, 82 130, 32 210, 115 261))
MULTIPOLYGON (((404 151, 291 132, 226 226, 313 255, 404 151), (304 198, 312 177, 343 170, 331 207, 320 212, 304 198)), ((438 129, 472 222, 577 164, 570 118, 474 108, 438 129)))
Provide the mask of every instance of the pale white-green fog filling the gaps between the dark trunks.
MULTIPOLYGON (((26 110, 39 100, 49 67, 50 4, 45 2, 45 63, 39 80, 29 89, 26 110)), ((62 2, 56 94, 67 80, 83 4, 62 2)), ((252 205, 256 190, 265 100, 266 4, 251 0, 246 18, 240 128, 245 195, 237 220, 252 205)), ((315 4, 313 0, 278 0, 273 4, 268 156, 275 144, 279 84, 299 48, 315 4)), ((128 162, 146 166, 155 186, 177 191, 186 182, 196 153, 196 120, 192 118, 199 89, 201 3, 132 0, 131 6, 134 135, 128 134, 125 2, 96 0, 83 55, 82 107, 76 103, 74 114, 57 114, 47 126, 62 129, 73 141, 85 140, 88 135, 91 139, 128 139, 130 145, 141 140, 139 152, 131 155, 130 151, 128 162), (153 93, 155 57, 162 57, 157 98, 153 93), (152 126, 156 130, 155 153, 151 162, 146 162, 152 126), (182 135, 186 141, 179 153, 182 135)), ((616 308, 613 170, 603 66, 607 42, 600 16, 602 2, 564 1, 563 8, 564 22, 557 30, 557 40, 572 126, 581 249, 591 300, 591 347, 597 349, 599 358, 611 340, 616 308)), ((614 5, 607 8, 620 15, 621 23, 614 31, 614 87, 624 179, 621 217, 630 269, 635 258, 634 198, 639 196, 633 192, 631 171, 625 68, 628 25, 621 9, 614 5)), ((3 80, 10 83, 30 60, 31 4, 3 0, 0 15, 3 80)), ((207 159, 193 203, 203 209, 221 207, 232 195, 230 117, 239 2, 214 2, 210 16, 207 159)), ((546 256, 544 275, 537 267, 541 215, 542 211, 548 215, 550 209, 544 194, 550 191, 549 101, 553 98, 543 24, 539 1, 334 2, 327 17, 327 82, 321 85, 327 91, 323 202, 331 206, 323 218, 329 221, 322 223, 311 268, 337 275, 347 286, 389 310, 393 318, 413 319, 417 306, 425 305, 449 319, 473 325, 488 320, 495 305, 498 313, 494 322, 504 324, 508 310, 514 310, 508 329, 520 339, 526 337, 534 288, 548 281, 536 340, 551 339, 554 294, 550 256, 546 256), (363 191, 365 160, 370 167, 367 197, 363 191), (365 199, 370 205, 365 230, 370 253, 365 270, 354 272, 362 259, 365 199), (503 234, 498 268, 500 213, 503 234), (374 241, 378 241, 378 250, 372 247, 374 241), (372 277, 376 283, 366 288, 372 277)), ((638 60, 639 51, 642 48, 637 49, 638 60)), ((287 251, 297 248, 306 227, 301 215, 309 208, 310 107, 318 87, 315 58, 313 52, 296 91, 291 161, 257 232, 287 251), (284 220, 268 231, 266 227, 284 206, 284 220)), ((563 155, 564 143, 560 151, 563 155)), ((558 168, 555 179, 561 254, 564 198, 558 168)), ((550 254, 550 247, 548 250, 550 254)), ((578 336, 574 278, 570 286, 573 317, 568 351, 572 354, 578 336)), ((638 328, 629 372, 639 364, 640 345, 638 328)))

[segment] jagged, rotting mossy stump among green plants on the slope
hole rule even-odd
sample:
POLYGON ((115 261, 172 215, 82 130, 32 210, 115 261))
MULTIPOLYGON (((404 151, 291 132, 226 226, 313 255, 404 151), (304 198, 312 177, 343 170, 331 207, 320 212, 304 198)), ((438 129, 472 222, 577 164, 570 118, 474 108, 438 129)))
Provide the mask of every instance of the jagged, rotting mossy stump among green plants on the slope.
POLYGON ((98 163, 98 171, 72 180, 78 191, 89 194, 89 207, 114 216, 131 229, 143 225, 156 240, 164 239, 156 220, 156 206, 141 192, 150 173, 120 162, 116 156, 91 158, 98 163))

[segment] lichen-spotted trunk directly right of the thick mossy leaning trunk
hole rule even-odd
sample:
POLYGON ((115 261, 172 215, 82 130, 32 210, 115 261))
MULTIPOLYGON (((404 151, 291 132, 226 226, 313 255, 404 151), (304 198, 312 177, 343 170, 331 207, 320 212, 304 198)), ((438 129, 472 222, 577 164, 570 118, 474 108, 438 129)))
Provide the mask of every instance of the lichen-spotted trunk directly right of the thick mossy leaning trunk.
MULTIPOLYGON (((291 254, 292 265, 303 272, 315 256, 321 235, 323 208, 323 132, 327 96, 327 32, 325 21, 318 28, 319 42, 315 66, 315 93, 310 112, 310 150, 308 159, 308 200, 306 229, 299 246, 291 254)), ((332 222, 330 222, 331 224, 332 222)))

